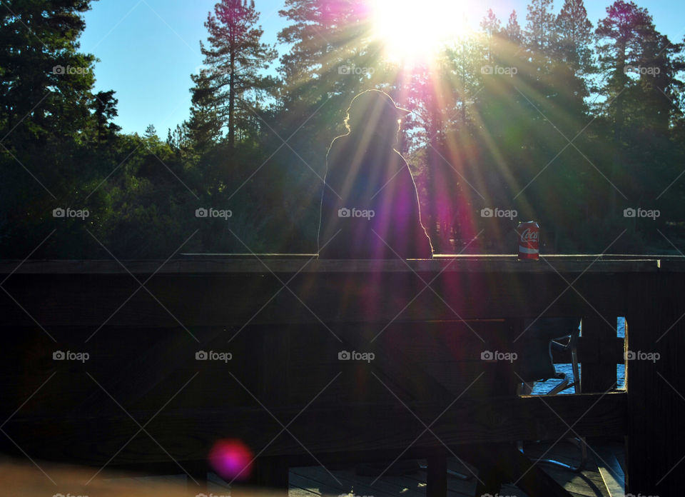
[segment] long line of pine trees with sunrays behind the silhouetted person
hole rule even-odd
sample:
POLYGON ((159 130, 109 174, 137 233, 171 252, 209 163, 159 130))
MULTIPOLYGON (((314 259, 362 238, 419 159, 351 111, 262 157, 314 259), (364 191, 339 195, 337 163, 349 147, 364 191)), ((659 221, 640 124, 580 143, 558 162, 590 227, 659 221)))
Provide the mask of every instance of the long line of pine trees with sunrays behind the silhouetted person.
POLYGON ((91 1, 9 6, 2 258, 311 253, 325 153, 370 88, 414 111, 400 151, 437 251, 512 252, 529 219, 547 253, 685 241, 684 45, 633 2, 615 1, 596 25, 582 0, 558 14, 533 0, 506 24, 488 11, 478 36, 405 68, 384 58, 364 1, 287 0, 277 59, 253 1, 221 0, 190 117, 165 141, 152 126, 121 133, 115 90, 93 90, 95 59, 78 51, 91 1))

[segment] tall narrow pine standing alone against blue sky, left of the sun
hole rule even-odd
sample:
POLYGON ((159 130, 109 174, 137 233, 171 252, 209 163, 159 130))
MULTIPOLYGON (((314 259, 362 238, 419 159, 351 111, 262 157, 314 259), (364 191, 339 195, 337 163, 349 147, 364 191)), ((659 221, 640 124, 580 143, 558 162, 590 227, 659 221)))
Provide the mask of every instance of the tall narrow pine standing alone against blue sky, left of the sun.
POLYGON ((263 29, 255 27, 258 19, 254 0, 219 1, 205 21, 209 46, 200 44, 208 69, 192 76, 196 89, 207 93, 201 99, 215 109, 222 126, 228 124, 230 148, 235 146, 236 130, 252 119, 252 111, 240 101, 247 92, 265 89, 268 80, 259 71, 276 56, 275 49, 260 41, 263 29))

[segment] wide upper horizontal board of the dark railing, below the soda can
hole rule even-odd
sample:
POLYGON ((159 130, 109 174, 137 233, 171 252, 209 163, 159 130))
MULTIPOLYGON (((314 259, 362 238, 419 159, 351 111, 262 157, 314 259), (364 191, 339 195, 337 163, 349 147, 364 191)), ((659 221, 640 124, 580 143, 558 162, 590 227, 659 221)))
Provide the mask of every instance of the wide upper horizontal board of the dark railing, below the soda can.
MULTIPOLYGON (((23 266, 22 266, 23 267, 23 266)), ((13 274, 0 295, 1 326, 178 327, 382 323, 458 318, 624 316, 628 273, 584 274, 569 291, 557 273, 13 274), (372 281, 372 283, 370 283, 372 281), (292 293, 291 293, 292 291, 292 293), (294 294, 293 294, 294 293, 294 294), (343 298, 344 296, 344 298, 343 298), (19 303, 19 305, 17 304, 19 303), (34 321, 35 320, 35 321, 34 321)), ((570 275, 567 275, 570 278, 570 275)))

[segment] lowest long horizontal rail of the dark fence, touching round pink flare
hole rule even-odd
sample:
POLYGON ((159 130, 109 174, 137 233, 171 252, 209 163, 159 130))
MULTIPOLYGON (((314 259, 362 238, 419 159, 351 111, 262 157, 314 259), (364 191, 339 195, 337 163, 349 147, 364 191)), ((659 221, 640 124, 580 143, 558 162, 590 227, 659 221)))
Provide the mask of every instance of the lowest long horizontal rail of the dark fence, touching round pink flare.
MULTIPOLYGON (((148 423, 149 436, 138 433, 135 438, 138 426, 123 413, 108 418, 81 418, 78 413, 66 418, 26 418, 20 411, 4 430, 36 458, 95 466, 108 461, 130 438, 112 464, 170 463, 171 456, 177 461, 201 461, 217 438, 239 438, 255 453, 264 448, 262 456, 305 453, 304 445, 311 453, 346 453, 349 457, 365 451, 396 455, 398 449, 411 446, 417 452, 407 453, 407 457, 416 457, 420 451, 442 448, 442 443, 456 447, 463 443, 554 440, 572 434, 568 426, 584 436, 620 436, 626 428, 625 402, 626 393, 622 392, 552 396, 544 401, 536 396, 472 398, 457 401, 445 411, 431 426, 435 435, 425 431, 415 414, 430 423, 444 411, 447 399, 439 405, 412 405, 413 413, 399 402, 363 408, 313 404, 288 428, 297 440, 288 433, 277 437, 281 427, 263 408, 235 406, 178 411, 171 405, 148 423)), ((272 412, 285 423, 298 411, 293 408, 272 412)), ((148 420, 152 413, 131 411, 131 416, 148 420)), ((0 445, 10 453, 16 451, 7 440, 0 445)))

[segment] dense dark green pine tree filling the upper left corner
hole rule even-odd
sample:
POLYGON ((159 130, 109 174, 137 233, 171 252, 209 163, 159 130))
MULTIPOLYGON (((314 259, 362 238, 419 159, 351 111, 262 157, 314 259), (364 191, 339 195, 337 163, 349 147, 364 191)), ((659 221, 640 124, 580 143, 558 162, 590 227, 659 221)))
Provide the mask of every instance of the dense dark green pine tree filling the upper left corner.
POLYGON ((13 130, 5 146, 72 139, 88 128, 95 57, 78 52, 77 39, 90 3, 33 0, 0 9, 0 131, 13 130))

